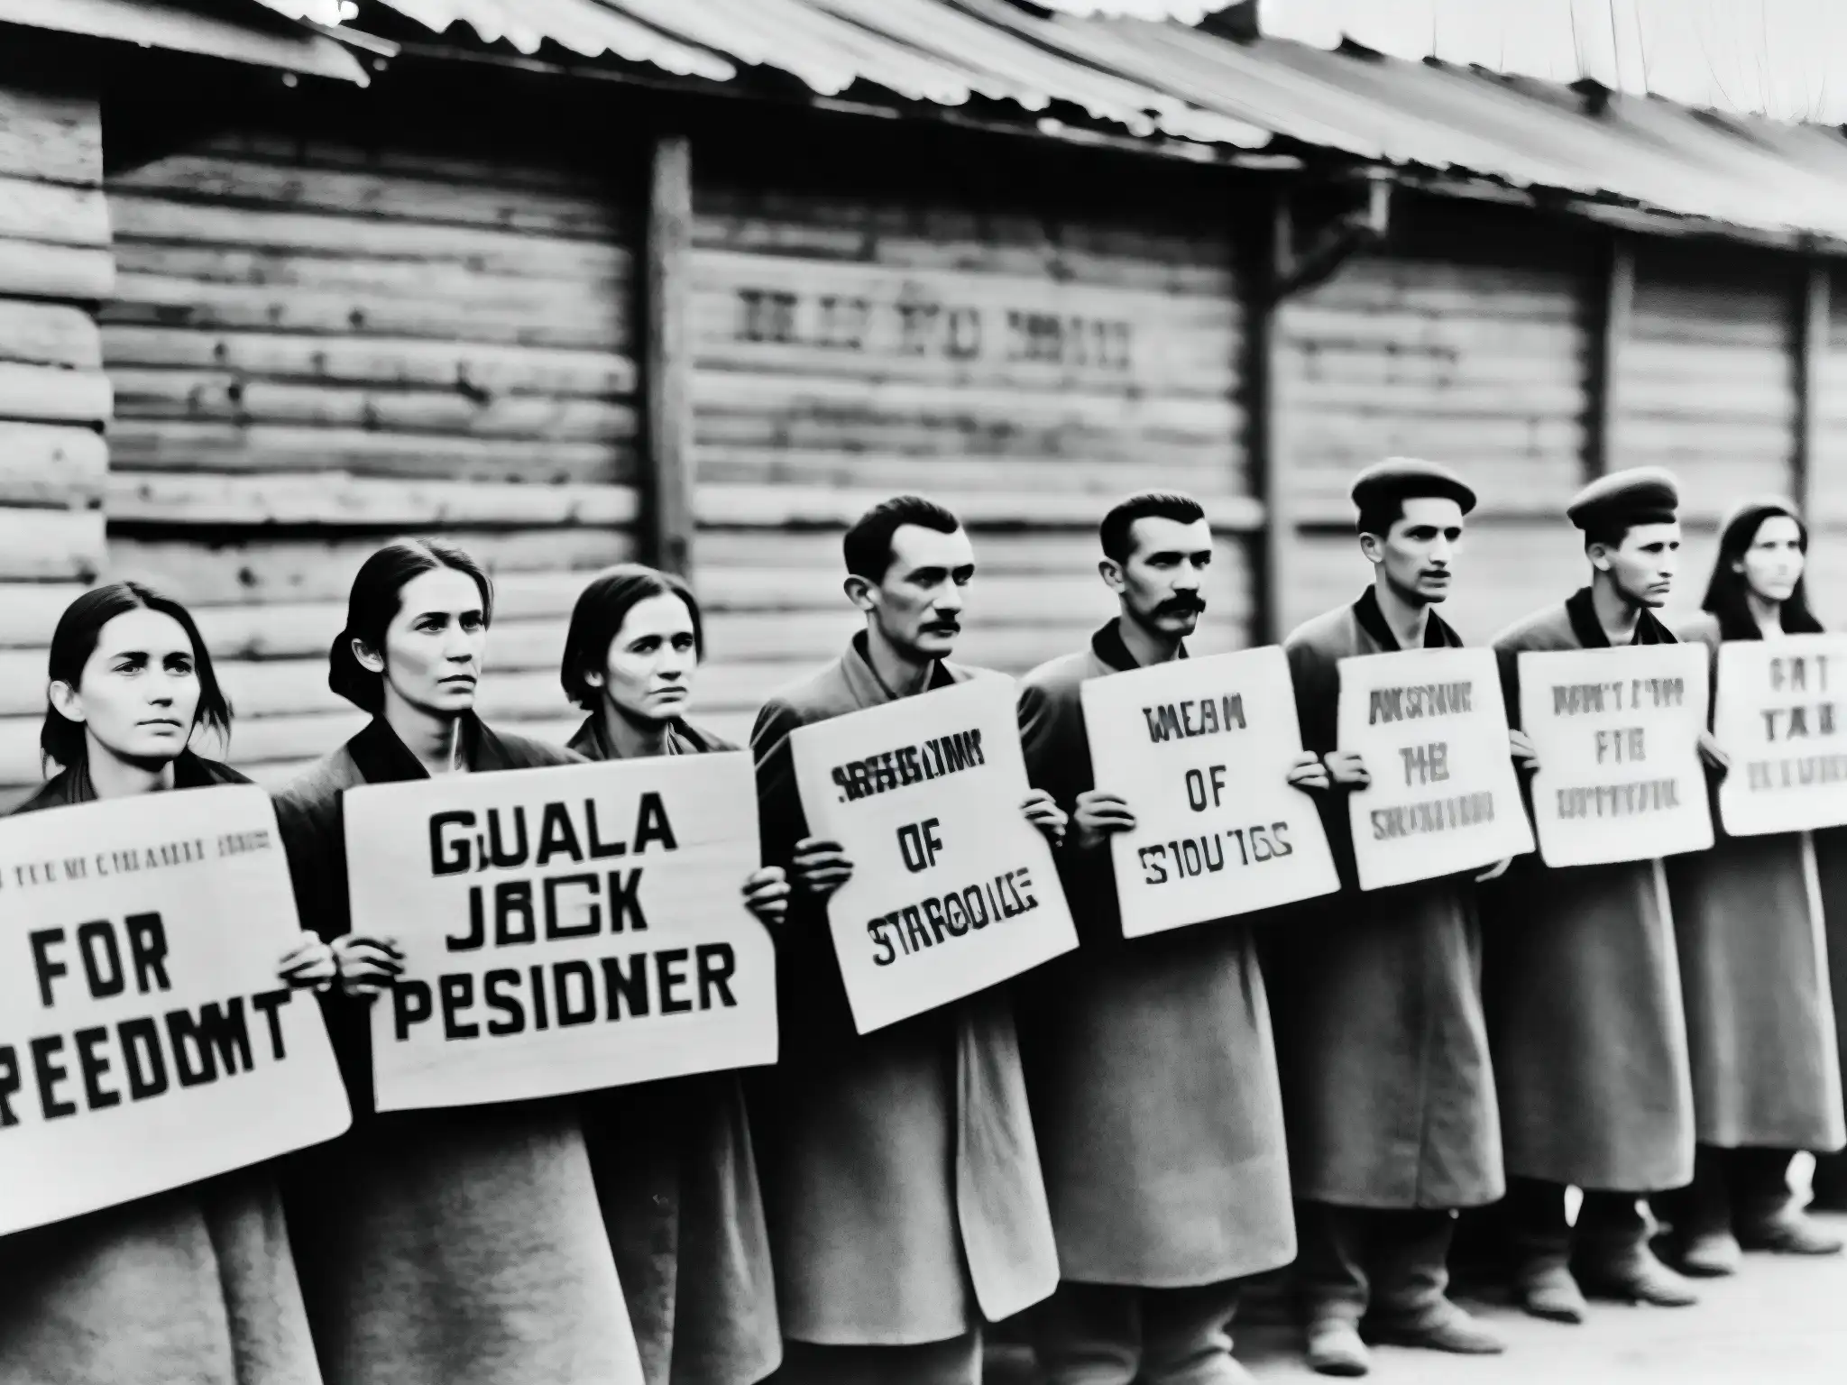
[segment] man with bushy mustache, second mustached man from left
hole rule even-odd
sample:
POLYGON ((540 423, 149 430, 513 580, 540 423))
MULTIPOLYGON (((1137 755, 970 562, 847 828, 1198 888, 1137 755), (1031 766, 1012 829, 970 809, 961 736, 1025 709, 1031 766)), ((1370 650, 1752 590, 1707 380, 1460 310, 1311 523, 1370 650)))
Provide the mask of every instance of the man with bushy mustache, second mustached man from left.
MULTIPOLYGON (((1020 685, 1027 774, 1071 814, 1060 875, 1082 947, 1025 977, 1020 1043, 1060 1283, 1036 1311, 1047 1385, 1232 1385, 1237 1282, 1295 1258, 1276 1054, 1245 920, 1127 942, 1108 838, 1134 805, 1095 789, 1086 680, 1184 659, 1212 526, 1186 495, 1103 519, 1121 613, 1020 685)), ((1324 785, 1304 755, 1291 783, 1324 785)))

